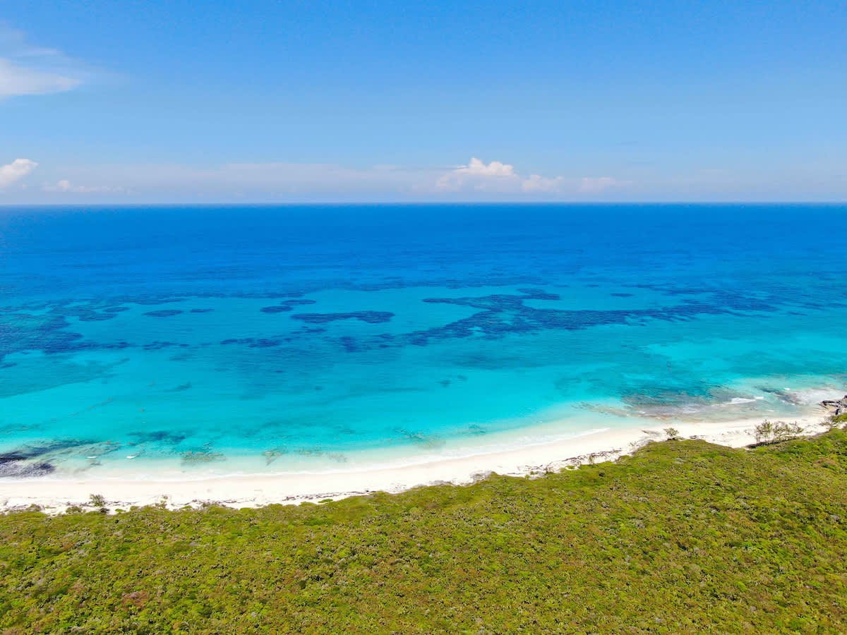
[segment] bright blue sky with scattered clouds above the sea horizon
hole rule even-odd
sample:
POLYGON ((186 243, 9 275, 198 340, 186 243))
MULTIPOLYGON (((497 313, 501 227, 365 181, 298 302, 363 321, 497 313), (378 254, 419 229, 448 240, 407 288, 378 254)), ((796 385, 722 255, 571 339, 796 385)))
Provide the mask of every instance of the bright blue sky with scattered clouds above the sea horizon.
POLYGON ((844 201, 844 2, 0 7, 0 205, 844 201))

